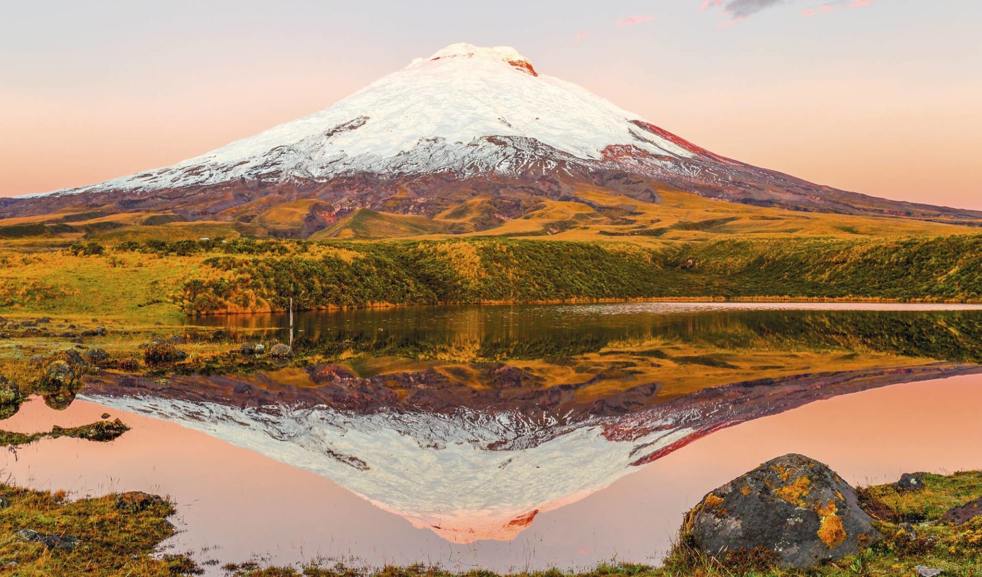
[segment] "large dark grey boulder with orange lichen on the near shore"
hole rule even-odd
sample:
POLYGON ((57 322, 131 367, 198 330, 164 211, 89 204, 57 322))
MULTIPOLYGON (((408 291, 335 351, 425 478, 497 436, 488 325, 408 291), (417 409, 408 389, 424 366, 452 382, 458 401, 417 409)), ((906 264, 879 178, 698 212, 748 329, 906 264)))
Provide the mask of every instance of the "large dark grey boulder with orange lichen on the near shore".
POLYGON ((827 465, 786 454, 712 491, 685 515, 682 534, 720 560, 768 550, 782 565, 807 567, 879 541, 872 522, 827 465))

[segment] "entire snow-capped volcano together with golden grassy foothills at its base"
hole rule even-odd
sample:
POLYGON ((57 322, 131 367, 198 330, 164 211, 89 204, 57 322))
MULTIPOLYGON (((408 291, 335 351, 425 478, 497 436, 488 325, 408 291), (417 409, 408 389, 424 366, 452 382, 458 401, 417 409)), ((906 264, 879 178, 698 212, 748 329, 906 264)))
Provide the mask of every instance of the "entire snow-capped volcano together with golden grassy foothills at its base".
POLYGON ((725 158, 540 75, 512 48, 470 44, 173 166, 0 200, 0 237, 126 228, 572 238, 664 236, 680 223, 717 233, 954 234, 982 224, 982 212, 847 192, 725 158))

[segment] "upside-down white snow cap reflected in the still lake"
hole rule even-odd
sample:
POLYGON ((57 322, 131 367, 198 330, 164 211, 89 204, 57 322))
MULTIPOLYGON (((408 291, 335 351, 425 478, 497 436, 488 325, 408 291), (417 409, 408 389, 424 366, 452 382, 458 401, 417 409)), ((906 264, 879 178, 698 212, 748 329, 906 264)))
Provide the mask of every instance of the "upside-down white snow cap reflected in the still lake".
POLYGON ((638 456, 634 447, 647 452, 691 433, 666 428, 624 443, 608 440, 599 422, 533 423, 513 412, 361 415, 326 406, 241 409, 156 397, 85 397, 322 475, 457 543, 514 539, 537 512, 637 470, 627 466, 638 456))

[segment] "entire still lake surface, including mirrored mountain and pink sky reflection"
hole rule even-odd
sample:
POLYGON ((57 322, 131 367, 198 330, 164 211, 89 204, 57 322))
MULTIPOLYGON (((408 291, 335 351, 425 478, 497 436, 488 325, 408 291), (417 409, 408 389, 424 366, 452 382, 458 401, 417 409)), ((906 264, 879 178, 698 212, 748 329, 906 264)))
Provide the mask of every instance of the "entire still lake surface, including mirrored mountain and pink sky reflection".
MULTIPOLYGON (((280 316, 195 323, 291 337, 280 316)), ((103 373, 66 411, 28 402, 4 428, 134 430, 0 467, 172 495, 169 546, 199 559, 497 570, 657 561, 687 507, 786 452, 853 483, 982 468, 976 307, 399 308, 303 314, 293 340, 292 366, 103 373)))

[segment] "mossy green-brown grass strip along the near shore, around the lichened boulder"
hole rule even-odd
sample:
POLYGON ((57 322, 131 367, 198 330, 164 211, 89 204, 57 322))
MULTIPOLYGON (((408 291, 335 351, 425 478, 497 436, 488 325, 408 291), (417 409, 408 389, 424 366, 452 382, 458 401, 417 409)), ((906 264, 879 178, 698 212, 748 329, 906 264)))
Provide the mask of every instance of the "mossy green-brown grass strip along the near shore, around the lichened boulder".
MULTIPOLYGON (((982 517, 953 526, 938 521, 948 508, 982 497, 982 472, 951 476, 927 475, 925 489, 898 493, 891 485, 861 490, 869 509, 880 518, 884 541, 836 563, 809 569, 780 569, 766 557, 745 555, 726 563, 692 554, 683 546, 663 566, 603 563, 588 571, 559 569, 518 572, 515 577, 855 577, 916 575, 914 567, 939 568, 945 575, 982 575, 982 517), (912 524, 903 524, 912 523, 912 524)), ((0 574, 25 577, 132 576, 197 574, 201 569, 184 555, 151 553, 170 537, 166 517, 174 512, 167 501, 138 510, 121 508, 116 496, 70 500, 64 492, 34 492, 0 485, 5 507, 0 513, 0 574), (19 529, 81 538, 71 551, 48 550, 18 540, 19 529), (15 562, 16 565, 10 565, 15 562)), ((214 561, 206 561, 214 563, 214 561)), ((217 563, 216 563, 217 564, 217 563)), ((349 567, 314 561, 297 567, 263 567, 254 562, 221 567, 229 577, 498 577, 484 570, 464 573, 441 567, 349 567)))

